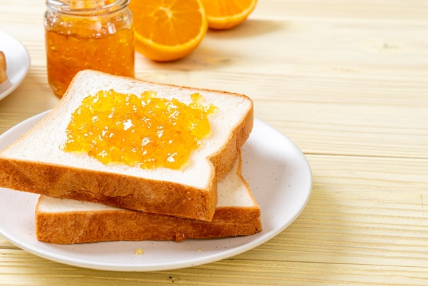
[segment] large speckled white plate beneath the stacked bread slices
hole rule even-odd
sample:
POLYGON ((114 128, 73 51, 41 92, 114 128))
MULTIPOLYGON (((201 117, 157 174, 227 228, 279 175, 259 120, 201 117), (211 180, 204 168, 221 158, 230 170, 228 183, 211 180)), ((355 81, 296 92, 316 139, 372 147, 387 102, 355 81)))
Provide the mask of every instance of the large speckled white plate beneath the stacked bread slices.
MULTIPOLYGON (((38 114, 0 135, 0 150, 45 115, 38 114)), ((262 213, 263 231, 255 235, 183 242, 46 244, 38 242, 34 233, 38 195, 4 188, 0 188, 0 234, 40 257, 98 270, 172 270, 226 259, 267 242, 289 226, 306 206, 312 187, 310 166, 299 148, 260 120, 254 120, 242 155, 243 175, 262 213), (134 255, 138 248, 144 250, 143 255, 134 255)))

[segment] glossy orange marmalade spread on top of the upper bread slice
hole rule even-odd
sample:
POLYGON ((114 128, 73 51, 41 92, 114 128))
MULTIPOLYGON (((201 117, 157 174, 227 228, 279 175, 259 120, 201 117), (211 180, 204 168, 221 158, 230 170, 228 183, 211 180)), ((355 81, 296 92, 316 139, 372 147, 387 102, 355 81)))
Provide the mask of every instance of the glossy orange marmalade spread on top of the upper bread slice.
POLYGON ((201 101, 198 93, 187 105, 154 91, 136 96, 102 90, 72 114, 60 148, 88 153, 103 164, 180 169, 211 130, 207 116, 215 107, 201 101))

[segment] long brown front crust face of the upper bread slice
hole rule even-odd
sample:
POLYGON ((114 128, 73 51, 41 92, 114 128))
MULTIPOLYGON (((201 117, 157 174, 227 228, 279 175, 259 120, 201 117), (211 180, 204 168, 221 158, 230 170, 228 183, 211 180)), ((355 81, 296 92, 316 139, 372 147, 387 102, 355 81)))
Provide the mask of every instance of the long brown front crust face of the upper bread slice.
POLYGON ((217 203, 217 183, 207 192, 170 181, 2 158, 0 170, 8 170, 7 177, 1 172, 0 185, 12 190, 150 213, 211 220, 215 207, 206 206, 217 203))

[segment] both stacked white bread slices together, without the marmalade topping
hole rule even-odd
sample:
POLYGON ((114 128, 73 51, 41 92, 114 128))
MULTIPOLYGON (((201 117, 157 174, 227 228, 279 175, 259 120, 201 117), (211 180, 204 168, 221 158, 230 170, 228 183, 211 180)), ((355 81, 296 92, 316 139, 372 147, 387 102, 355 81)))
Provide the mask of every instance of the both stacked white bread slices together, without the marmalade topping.
POLYGON ((241 147, 253 125, 248 96, 117 77, 83 70, 57 106, 0 153, 0 186, 40 194, 36 235, 41 242, 176 240, 252 235, 260 208, 241 175, 241 147), (103 164, 59 148, 71 114, 100 90, 155 91, 190 103, 199 93, 216 107, 211 131, 184 168, 146 169, 103 164))

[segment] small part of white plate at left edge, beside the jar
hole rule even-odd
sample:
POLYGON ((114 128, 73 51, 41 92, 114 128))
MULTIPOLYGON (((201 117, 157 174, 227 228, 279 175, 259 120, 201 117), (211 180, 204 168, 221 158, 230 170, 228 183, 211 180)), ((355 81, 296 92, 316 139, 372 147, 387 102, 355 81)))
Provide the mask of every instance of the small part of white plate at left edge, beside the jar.
POLYGON ((0 83, 0 100, 4 99, 21 84, 28 73, 30 58, 27 49, 16 38, 0 31, 0 51, 6 58, 6 74, 9 82, 0 83))

